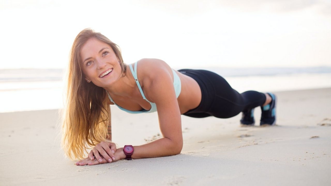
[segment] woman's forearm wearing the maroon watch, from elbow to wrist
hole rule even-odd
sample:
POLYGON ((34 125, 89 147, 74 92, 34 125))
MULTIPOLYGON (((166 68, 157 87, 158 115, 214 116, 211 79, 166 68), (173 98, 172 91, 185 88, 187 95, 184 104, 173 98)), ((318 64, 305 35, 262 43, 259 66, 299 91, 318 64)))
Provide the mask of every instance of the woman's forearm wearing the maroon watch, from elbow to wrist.
MULTIPOLYGON (((134 146, 132 159, 172 156, 179 154, 182 147, 182 140, 172 141, 164 137, 144 145, 134 146)), ((119 150, 123 151, 123 148, 117 151, 119 150)), ((125 159, 124 152, 120 154, 120 157, 121 159, 125 159)))

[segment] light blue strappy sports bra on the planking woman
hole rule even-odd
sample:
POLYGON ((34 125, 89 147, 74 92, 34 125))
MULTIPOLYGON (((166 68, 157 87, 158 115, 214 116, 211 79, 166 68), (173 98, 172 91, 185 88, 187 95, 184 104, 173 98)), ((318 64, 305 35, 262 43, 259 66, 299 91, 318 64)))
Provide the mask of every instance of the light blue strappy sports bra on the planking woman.
MULTIPOLYGON (((151 110, 147 111, 145 109, 141 110, 141 111, 129 111, 129 110, 126 110, 120 106, 118 106, 114 101, 113 99, 110 97, 109 93, 108 93, 108 97, 110 99, 111 102, 113 102, 116 106, 118 106, 119 109, 125 111, 125 112, 128 112, 128 113, 131 113, 131 114, 139 114, 139 113, 152 113, 152 112, 156 112, 156 104, 155 103, 152 103, 150 101, 148 101, 144 95, 144 92, 143 90, 141 89, 141 86, 139 84, 139 81, 138 81, 138 76, 137 76, 137 64, 138 64, 138 61, 136 63, 134 63, 134 70, 131 66, 131 64, 129 64, 129 67, 130 67, 130 70, 132 72, 132 75, 137 83, 137 86, 139 88, 139 91, 141 93, 141 96, 144 98, 144 100, 146 100, 148 103, 151 104, 151 110)), ((181 82, 180 82, 180 79, 179 79, 179 76, 178 74, 175 72, 175 70, 171 69, 172 70, 172 73, 173 73, 173 87, 175 88, 175 93, 176 93, 176 98, 178 98, 179 94, 180 94, 180 91, 181 91, 181 82)))

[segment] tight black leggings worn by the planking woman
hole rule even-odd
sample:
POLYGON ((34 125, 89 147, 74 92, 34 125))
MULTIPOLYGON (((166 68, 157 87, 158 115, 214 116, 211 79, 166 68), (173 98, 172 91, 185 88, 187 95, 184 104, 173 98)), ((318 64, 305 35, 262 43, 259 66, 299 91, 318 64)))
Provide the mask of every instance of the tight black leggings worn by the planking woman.
POLYGON ((223 77, 214 72, 191 69, 178 71, 196 80, 202 93, 199 106, 184 113, 185 116, 229 118, 265 102, 263 93, 250 90, 239 94, 223 77))

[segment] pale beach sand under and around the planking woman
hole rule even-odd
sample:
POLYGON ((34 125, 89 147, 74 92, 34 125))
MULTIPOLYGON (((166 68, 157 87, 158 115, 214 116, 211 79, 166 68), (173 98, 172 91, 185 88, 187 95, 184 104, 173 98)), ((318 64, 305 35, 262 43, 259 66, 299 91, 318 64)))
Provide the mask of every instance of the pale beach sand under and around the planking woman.
MULTIPOLYGON (((277 96, 276 126, 182 116, 181 154, 93 166, 64 157, 57 110, 1 113, 0 185, 331 185, 331 88, 277 96)), ((157 113, 112 118, 119 147, 160 137, 157 113)))

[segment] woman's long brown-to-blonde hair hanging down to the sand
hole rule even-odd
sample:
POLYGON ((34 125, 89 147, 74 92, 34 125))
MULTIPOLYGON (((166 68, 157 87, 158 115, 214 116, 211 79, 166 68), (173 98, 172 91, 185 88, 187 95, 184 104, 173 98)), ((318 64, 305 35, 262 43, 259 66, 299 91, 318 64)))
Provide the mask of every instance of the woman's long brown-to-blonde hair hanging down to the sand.
POLYGON ((120 62, 122 76, 126 74, 126 65, 118 45, 90 28, 79 32, 70 53, 66 108, 62 123, 62 146, 70 159, 85 158, 87 149, 108 138, 110 108, 107 92, 92 82, 86 82, 81 70, 80 51, 90 38, 98 39, 112 47, 120 62))

